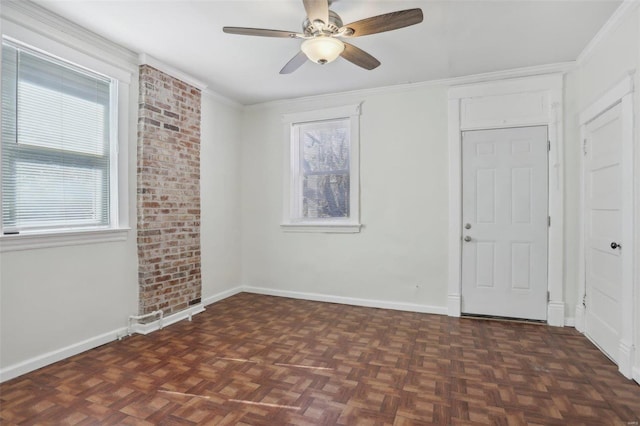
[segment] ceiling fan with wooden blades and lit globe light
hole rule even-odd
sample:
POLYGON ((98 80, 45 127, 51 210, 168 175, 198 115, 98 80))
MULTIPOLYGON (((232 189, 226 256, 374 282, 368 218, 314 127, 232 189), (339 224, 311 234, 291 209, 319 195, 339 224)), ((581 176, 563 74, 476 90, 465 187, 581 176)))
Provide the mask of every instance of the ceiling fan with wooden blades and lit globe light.
POLYGON ((397 30, 419 24, 423 19, 421 9, 407 9, 343 25, 340 16, 333 10, 329 10, 329 0, 302 0, 302 2, 307 12, 307 18, 302 23, 302 33, 245 27, 224 27, 222 30, 228 34, 304 40, 300 46, 300 52, 287 62, 280 70, 280 74, 292 73, 300 68, 307 58, 318 64, 327 64, 338 56, 359 67, 372 70, 380 65, 380 61, 341 39, 397 30))

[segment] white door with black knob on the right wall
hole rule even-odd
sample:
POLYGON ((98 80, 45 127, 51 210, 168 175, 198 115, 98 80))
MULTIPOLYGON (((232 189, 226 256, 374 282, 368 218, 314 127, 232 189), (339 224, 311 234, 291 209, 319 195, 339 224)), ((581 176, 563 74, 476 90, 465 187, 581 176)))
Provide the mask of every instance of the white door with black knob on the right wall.
MULTIPOLYGON (((618 362, 622 326, 621 106, 587 124, 585 134, 585 332, 618 362)), ((628 237, 631 237, 629 235, 628 237)))

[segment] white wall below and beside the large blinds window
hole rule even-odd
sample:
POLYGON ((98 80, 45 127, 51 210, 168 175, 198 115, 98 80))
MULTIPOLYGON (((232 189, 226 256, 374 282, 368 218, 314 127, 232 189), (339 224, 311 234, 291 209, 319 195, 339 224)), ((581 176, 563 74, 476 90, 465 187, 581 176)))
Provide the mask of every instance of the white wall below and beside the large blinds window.
MULTIPOLYGON (((129 111, 137 111, 137 77, 129 111)), ((126 241, 0 254, 0 375, 115 339, 138 312, 136 115, 129 120, 126 241), (85 342, 88 341, 88 342, 85 342), (87 346, 82 346, 83 342, 87 346), (26 363, 25 366, 20 364, 26 363)))

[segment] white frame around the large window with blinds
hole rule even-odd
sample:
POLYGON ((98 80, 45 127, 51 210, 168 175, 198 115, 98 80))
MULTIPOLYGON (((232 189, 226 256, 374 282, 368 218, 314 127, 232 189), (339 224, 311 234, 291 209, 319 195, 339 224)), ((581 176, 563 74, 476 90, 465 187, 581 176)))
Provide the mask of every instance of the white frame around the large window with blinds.
MULTIPOLYGON (((104 62, 67 44, 54 41, 32 30, 2 20, 2 41, 63 63, 108 76, 112 80, 110 99, 110 221, 107 226, 21 231, 4 234, 0 221, 0 252, 124 241, 129 236, 129 98, 132 72, 104 62)), ((0 49, 2 45, 0 44, 0 49)), ((0 112, 1 114, 1 112, 0 112)), ((0 135, 1 138, 1 135, 0 135)), ((0 153, 1 155, 1 153, 0 153)), ((1 186, 0 186, 1 191, 1 186)), ((0 192, 0 196, 1 196, 0 192)))

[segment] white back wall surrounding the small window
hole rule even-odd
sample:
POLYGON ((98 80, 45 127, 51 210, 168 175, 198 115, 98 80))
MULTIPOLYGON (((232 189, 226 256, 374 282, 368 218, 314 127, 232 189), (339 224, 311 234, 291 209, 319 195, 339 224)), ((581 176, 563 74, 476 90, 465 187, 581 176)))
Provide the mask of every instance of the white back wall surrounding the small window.
POLYGON ((244 285, 446 312, 446 87, 248 108, 242 144, 244 285), (358 102, 361 232, 284 232, 282 114, 358 102))

